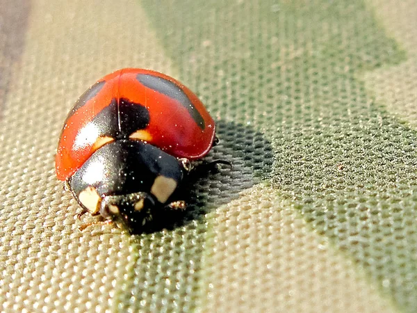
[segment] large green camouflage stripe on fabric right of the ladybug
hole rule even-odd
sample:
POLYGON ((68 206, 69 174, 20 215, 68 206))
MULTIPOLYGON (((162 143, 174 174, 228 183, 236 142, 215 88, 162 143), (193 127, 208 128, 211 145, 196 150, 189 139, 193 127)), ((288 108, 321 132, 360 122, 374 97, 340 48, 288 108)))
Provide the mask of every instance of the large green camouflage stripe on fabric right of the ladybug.
POLYGON ((145 0, 213 115, 275 148, 274 186, 399 307, 417 306, 417 134, 361 77, 406 59, 363 1, 145 0))

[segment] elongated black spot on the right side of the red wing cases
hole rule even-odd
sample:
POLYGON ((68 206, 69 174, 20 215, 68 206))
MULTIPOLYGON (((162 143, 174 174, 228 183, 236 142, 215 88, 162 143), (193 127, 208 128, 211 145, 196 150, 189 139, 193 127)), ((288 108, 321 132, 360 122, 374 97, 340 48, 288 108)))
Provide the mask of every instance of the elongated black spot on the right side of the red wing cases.
POLYGON ((204 122, 202 115, 197 109, 195 109, 193 102, 190 101, 183 90, 181 90, 181 88, 179 88, 179 86, 177 86, 175 83, 172 83, 172 81, 167 81, 162 77, 156 77, 149 74, 138 74, 136 79, 147 88, 151 88, 158 93, 162 93, 163 95, 177 100, 184 108, 187 109, 188 113, 190 113, 191 117, 193 120, 195 120, 199 128, 206 128, 206 123, 204 122))

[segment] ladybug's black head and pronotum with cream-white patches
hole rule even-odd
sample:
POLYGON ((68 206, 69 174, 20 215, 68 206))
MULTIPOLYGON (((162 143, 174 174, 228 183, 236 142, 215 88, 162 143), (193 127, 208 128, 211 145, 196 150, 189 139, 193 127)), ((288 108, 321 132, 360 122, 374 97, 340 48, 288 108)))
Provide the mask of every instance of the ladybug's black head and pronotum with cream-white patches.
POLYGON ((184 171, 181 161, 152 145, 119 140, 94 152, 69 186, 86 211, 134 229, 170 202, 184 171))

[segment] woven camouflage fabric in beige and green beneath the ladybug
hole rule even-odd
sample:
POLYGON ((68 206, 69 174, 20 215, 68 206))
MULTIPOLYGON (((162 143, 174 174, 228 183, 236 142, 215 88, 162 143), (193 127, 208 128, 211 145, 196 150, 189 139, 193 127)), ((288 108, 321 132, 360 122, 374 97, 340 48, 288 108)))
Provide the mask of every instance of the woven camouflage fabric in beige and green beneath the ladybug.
POLYGON ((417 312, 417 2, 0 0, 2 312, 417 312), (88 227, 67 112, 145 67, 218 125, 149 234, 88 227))

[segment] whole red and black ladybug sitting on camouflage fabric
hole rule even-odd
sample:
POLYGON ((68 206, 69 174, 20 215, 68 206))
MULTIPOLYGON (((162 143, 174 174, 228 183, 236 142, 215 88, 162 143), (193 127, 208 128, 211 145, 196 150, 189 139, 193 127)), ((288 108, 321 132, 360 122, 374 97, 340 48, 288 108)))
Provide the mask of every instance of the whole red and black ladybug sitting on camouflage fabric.
POLYGON ((67 115, 56 175, 83 211, 104 223, 145 225, 215 144, 215 122, 197 96, 159 72, 126 68, 92 85, 67 115))

